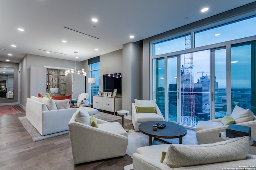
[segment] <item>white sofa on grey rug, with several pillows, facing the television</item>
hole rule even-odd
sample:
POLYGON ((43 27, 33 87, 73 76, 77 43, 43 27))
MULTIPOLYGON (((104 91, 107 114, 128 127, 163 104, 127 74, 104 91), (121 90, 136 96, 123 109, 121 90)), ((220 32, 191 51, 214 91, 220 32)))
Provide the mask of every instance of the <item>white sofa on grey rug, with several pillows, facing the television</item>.
POLYGON ((68 130, 68 122, 76 112, 76 108, 70 108, 68 99, 57 101, 59 109, 56 108, 57 106, 50 106, 50 104, 53 105, 53 99, 46 100, 47 104, 44 104, 42 100, 46 99, 34 96, 27 98, 26 118, 28 121, 42 136, 68 130))

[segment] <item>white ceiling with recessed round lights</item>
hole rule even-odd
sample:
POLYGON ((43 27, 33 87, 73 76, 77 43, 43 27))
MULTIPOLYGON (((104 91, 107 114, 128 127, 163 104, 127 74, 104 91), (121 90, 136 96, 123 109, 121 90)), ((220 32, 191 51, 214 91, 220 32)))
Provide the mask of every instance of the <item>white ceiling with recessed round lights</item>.
POLYGON ((20 63, 26 54, 74 61, 74 51, 77 61, 84 61, 251 2, 254 0, 1 0, 0 61, 20 63), (209 10, 203 13, 204 7, 209 10))

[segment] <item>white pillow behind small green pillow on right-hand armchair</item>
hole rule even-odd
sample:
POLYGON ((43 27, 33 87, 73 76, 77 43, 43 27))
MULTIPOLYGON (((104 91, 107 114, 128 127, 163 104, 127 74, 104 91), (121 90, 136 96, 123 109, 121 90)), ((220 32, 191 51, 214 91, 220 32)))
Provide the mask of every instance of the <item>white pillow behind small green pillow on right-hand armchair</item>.
POLYGON ((236 105, 230 117, 234 119, 236 123, 242 123, 252 121, 254 119, 254 114, 250 109, 244 109, 236 105))

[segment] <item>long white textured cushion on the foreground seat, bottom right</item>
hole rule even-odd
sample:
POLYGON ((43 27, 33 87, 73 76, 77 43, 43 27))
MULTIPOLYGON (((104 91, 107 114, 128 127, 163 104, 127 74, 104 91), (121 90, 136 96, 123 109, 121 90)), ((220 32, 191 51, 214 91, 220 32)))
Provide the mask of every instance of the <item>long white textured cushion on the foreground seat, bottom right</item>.
POLYGON ((249 139, 244 136, 202 145, 171 144, 163 164, 178 168, 244 160, 249 151, 249 139))

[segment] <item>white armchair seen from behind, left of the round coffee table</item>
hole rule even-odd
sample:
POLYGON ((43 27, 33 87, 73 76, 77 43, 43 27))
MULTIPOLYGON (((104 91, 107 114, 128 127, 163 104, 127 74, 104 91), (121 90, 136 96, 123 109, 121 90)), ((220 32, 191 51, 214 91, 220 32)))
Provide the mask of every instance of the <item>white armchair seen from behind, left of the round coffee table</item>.
POLYGON ((98 128, 76 121, 68 123, 74 164, 124 156, 128 135, 118 122, 97 119, 98 128))

